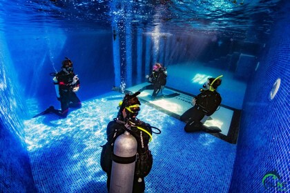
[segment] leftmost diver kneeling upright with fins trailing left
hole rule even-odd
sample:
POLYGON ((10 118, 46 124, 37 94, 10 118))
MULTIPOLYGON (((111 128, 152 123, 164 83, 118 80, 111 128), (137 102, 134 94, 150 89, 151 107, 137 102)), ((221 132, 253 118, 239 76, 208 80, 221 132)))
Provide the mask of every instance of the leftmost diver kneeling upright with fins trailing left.
POLYGON ((75 94, 79 90, 79 78, 73 72, 72 61, 66 57, 62 61, 61 71, 50 73, 54 76, 53 81, 57 92, 57 100, 61 103, 61 110, 56 110, 53 106, 50 106, 44 112, 41 112, 33 117, 37 117, 50 112, 66 118, 68 115, 68 108, 81 108, 81 101, 75 94))

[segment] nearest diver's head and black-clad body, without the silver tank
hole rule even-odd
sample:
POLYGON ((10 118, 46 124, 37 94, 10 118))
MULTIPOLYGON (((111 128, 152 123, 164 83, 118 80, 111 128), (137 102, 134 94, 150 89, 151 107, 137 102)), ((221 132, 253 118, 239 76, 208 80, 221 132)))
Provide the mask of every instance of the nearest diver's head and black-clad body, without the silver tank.
MULTIPOLYGON (((137 98, 138 94, 140 94, 140 92, 136 92, 133 95, 126 94, 123 101, 119 103, 119 112, 117 114, 117 118, 113 119, 113 121, 110 121, 110 123, 108 123, 107 125, 107 143, 101 146, 101 168, 102 170, 104 170, 104 172, 106 172, 108 176, 108 192, 110 192, 109 189, 111 182, 111 173, 113 173, 112 159, 114 159, 114 156, 116 156, 115 152, 113 153, 114 143, 117 137, 121 134, 124 134, 124 132, 129 132, 137 141, 137 159, 136 157, 134 157, 133 160, 133 162, 135 162, 135 172, 133 174, 133 192, 144 192, 144 177, 147 176, 151 171, 153 156, 151 154, 151 150, 149 150, 148 148, 148 143, 152 139, 152 128, 154 127, 152 127, 148 123, 140 121, 136 117, 140 110, 139 105, 141 105, 139 99, 137 98)), ((160 134, 160 132, 157 134, 160 134)), ((122 180, 126 181, 126 179, 119 179, 119 181, 122 180)))

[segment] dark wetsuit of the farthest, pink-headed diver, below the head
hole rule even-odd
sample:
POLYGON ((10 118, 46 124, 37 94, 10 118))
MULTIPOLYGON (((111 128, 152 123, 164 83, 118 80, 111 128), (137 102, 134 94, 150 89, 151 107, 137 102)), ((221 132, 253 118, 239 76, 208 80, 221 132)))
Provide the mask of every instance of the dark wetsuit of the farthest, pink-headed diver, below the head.
POLYGON ((149 76, 149 81, 151 85, 147 85, 144 88, 140 89, 139 92, 142 92, 143 90, 153 90, 152 98, 155 99, 157 97, 157 94, 162 90, 162 86, 166 85, 166 69, 160 68, 160 70, 155 71, 151 73, 149 76))

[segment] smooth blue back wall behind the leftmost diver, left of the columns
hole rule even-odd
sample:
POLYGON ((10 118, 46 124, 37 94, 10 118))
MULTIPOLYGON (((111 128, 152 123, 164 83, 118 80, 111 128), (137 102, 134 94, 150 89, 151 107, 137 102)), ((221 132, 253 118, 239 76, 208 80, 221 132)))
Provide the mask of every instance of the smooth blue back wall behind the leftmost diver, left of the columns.
POLYGON ((110 30, 67 32, 43 26, 32 31, 6 34, 17 79, 28 99, 37 99, 41 108, 60 107, 50 72, 59 72, 65 57, 72 60, 81 82, 77 93, 81 101, 111 90, 115 74, 110 30))

